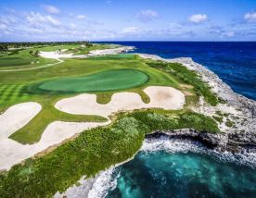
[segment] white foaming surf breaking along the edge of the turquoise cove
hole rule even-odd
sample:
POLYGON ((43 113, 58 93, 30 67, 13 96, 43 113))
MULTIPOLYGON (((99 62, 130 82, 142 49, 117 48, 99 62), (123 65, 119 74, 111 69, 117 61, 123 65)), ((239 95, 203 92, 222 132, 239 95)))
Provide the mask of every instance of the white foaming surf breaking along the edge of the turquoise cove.
MULTIPOLYGON (((146 139, 143 142, 143 145, 139 152, 150 154, 158 151, 165 151, 170 154, 192 152, 200 155, 211 155, 222 162, 232 162, 238 165, 246 165, 252 168, 256 168, 256 154, 254 153, 245 153, 245 154, 237 154, 237 155, 231 154, 229 152, 221 153, 215 150, 208 149, 207 147, 203 146, 201 143, 193 142, 193 141, 173 140, 173 139, 167 139, 167 138, 146 139)), ((132 158, 129 160, 132 160, 132 158)), ((116 167, 121 166, 123 163, 118 164, 114 167, 111 167, 108 170, 101 171, 96 176, 96 179, 94 180, 91 190, 87 192, 87 197, 88 198, 106 197, 108 195, 109 190, 115 189, 117 186, 117 179, 120 177, 120 173, 117 172, 116 167)), ((77 193, 79 192, 78 191, 79 188, 80 189, 88 188, 88 186, 83 187, 83 185, 88 185, 88 183, 81 182, 81 186, 71 187, 71 189, 69 190, 68 197, 76 197, 76 198, 86 197, 84 196, 84 193, 83 195, 82 193, 77 193)))

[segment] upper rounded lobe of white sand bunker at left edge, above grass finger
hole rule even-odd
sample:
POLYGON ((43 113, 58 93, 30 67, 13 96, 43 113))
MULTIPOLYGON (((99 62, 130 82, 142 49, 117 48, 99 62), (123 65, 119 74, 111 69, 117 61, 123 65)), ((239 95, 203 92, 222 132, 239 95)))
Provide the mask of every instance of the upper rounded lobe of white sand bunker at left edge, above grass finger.
POLYGON ((38 103, 21 103, 9 107, 0 115, 0 140, 9 137, 34 118, 42 106, 38 103))

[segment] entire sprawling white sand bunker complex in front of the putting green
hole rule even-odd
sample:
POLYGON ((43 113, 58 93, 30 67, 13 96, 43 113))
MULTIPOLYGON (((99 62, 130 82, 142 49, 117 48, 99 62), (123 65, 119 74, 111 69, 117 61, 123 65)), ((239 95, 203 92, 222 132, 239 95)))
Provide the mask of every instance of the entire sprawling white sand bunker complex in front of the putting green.
MULTIPOLYGON (((70 114, 98 115, 109 117, 110 114, 122 110, 157 107, 163 109, 179 109, 185 104, 185 95, 171 87, 151 86, 144 90, 150 97, 150 103, 145 104, 137 93, 115 93, 107 105, 96 103, 96 94, 80 94, 75 97, 60 100, 56 107, 70 114)), ((40 142, 21 144, 8 139, 16 130, 28 123, 39 111, 41 105, 24 103, 13 105, 3 115, 0 115, 0 169, 9 169, 24 159, 36 155, 48 147, 63 142, 73 135, 98 126, 108 125, 108 122, 63 122, 55 121, 47 126, 40 142)))

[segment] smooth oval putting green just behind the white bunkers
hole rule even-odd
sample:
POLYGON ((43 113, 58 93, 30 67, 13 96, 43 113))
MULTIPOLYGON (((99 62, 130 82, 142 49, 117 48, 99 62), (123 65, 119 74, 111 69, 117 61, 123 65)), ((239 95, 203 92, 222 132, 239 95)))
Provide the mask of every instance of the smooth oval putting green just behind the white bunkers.
POLYGON ((61 78, 41 83, 45 91, 83 93, 133 88, 147 81, 147 74, 134 69, 107 70, 83 77, 61 78))

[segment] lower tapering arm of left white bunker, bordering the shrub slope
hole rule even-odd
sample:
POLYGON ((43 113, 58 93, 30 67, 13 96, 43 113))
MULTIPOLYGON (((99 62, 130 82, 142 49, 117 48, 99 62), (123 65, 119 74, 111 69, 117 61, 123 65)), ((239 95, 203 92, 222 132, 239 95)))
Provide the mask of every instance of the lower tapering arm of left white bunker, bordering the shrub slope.
POLYGON ((107 125, 109 122, 62 122, 55 121, 48 125, 40 142, 34 144, 21 144, 11 139, 0 140, 0 169, 9 169, 15 164, 20 163, 24 159, 36 155, 48 147, 63 142, 73 135, 95 128, 97 126, 107 125))

